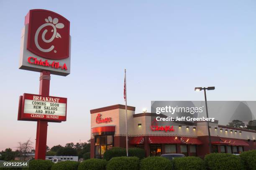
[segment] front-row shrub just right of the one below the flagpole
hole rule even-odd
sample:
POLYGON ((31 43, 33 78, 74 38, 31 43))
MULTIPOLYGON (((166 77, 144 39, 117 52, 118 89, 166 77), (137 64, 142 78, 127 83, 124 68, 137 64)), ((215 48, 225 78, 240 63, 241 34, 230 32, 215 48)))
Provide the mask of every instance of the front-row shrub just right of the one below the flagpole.
POLYGON ((172 170, 172 162, 159 156, 144 158, 141 160, 141 170, 172 170))

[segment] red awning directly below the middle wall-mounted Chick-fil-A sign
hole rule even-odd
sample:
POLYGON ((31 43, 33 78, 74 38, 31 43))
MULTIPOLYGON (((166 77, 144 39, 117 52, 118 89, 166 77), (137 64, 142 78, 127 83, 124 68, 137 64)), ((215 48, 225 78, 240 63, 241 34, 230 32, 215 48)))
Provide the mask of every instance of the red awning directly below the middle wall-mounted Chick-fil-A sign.
POLYGON ((174 136, 149 136, 148 143, 156 144, 156 143, 166 143, 166 144, 175 144, 181 143, 179 138, 174 136))

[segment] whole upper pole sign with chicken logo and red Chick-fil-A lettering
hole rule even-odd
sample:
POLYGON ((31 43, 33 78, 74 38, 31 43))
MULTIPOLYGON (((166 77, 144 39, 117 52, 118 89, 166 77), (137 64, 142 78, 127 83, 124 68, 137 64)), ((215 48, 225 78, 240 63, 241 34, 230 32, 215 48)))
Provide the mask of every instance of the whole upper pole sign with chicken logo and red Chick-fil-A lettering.
POLYGON ((21 32, 19 68, 70 74, 69 20, 49 10, 30 10, 21 32))

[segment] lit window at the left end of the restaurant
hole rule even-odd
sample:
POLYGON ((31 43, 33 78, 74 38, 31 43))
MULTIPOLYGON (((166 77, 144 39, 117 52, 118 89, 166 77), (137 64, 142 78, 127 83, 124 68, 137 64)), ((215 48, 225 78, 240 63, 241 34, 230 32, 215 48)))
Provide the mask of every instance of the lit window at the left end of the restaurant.
POLYGON ((113 135, 95 136, 95 158, 103 158, 106 150, 113 147, 113 135))

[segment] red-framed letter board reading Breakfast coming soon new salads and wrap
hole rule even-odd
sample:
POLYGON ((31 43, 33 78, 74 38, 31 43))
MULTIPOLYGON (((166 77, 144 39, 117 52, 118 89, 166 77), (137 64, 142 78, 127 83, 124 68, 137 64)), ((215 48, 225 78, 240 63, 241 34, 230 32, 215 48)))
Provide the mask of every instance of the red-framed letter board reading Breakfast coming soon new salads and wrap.
POLYGON ((20 96, 18 120, 66 121, 67 98, 24 93, 20 96))

